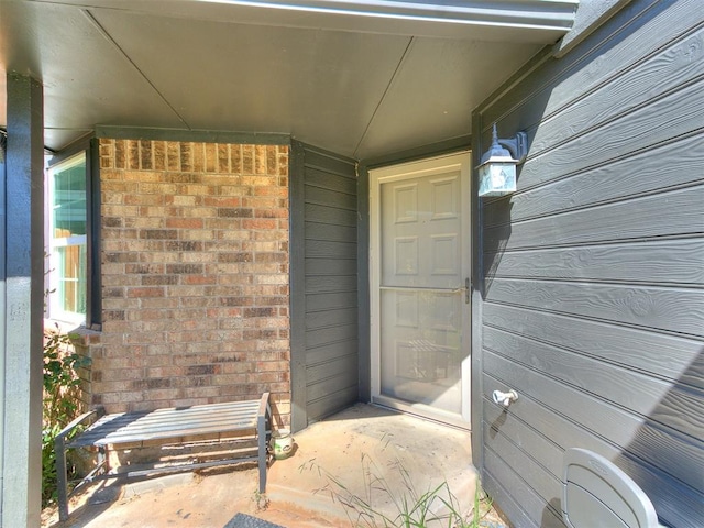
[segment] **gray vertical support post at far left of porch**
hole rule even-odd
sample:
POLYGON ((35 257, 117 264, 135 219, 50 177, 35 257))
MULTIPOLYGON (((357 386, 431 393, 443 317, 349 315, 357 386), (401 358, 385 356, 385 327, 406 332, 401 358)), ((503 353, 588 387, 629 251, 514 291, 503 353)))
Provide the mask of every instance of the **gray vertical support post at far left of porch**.
MULTIPOLYGON (((7 76, 0 526, 40 526, 44 312, 44 113, 35 79, 7 76)), ((2 310, 0 310, 2 311, 2 310)))

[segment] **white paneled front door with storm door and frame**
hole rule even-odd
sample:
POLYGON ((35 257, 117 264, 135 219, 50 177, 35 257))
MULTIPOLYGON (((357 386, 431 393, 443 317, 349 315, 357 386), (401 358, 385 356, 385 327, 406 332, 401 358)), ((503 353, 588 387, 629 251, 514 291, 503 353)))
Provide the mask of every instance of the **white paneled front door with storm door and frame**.
POLYGON ((370 172, 372 399, 470 427, 470 154, 370 172))

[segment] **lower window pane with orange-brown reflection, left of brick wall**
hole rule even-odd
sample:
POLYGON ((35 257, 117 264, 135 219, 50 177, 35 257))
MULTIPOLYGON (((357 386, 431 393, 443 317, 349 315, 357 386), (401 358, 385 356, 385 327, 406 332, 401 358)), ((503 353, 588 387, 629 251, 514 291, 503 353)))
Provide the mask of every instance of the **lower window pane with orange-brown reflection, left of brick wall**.
POLYGON ((86 244, 57 248, 56 294, 58 309, 86 315, 86 244))

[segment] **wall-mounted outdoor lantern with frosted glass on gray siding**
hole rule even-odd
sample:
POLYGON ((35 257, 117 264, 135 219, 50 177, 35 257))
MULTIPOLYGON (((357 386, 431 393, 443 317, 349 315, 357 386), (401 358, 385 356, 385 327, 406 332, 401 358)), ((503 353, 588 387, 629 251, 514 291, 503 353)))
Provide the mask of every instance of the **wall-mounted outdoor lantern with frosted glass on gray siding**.
POLYGON ((509 140, 498 139, 496 123, 492 146, 480 164, 480 196, 506 196, 516 191, 516 165, 524 163, 528 152, 528 138, 518 132, 509 140))

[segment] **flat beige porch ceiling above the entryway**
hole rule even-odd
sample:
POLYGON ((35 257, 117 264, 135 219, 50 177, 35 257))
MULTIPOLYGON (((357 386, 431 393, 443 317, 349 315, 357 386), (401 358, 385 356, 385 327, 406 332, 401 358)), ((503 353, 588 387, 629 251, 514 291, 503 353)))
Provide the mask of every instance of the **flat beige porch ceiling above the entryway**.
POLYGON ((576 10, 436 3, 0 0, 0 95, 6 72, 43 81, 52 150, 111 125, 278 132, 369 158, 468 135, 576 10))

